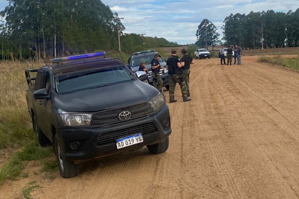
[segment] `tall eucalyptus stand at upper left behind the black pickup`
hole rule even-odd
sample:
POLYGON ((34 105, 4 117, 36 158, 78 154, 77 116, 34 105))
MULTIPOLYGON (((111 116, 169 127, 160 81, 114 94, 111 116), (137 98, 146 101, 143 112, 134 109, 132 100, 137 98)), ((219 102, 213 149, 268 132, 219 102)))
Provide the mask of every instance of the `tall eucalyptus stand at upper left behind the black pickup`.
POLYGON ((15 46, 12 52, 20 55, 94 51, 114 36, 115 15, 101 0, 9 0, 1 16, 15 46))

